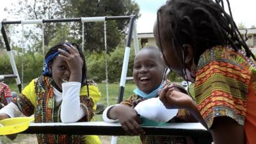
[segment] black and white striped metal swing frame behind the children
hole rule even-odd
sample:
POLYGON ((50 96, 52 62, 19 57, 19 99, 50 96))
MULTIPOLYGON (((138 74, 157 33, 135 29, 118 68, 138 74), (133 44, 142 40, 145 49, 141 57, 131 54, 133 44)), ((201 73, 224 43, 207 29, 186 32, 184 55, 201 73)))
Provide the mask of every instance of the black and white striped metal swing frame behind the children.
POLYGON ((129 63, 129 55, 131 50, 131 39, 133 36, 134 41, 134 52, 135 54, 139 51, 138 44, 138 35, 136 31, 136 17, 134 15, 130 16, 114 16, 114 17, 80 17, 80 18, 70 18, 70 19, 35 19, 35 20, 17 20, 17 21, 3 21, 0 24, 1 33, 3 35, 4 44, 6 46, 6 50, 8 52, 8 58, 12 65, 13 74, 2 75, 2 77, 13 77, 16 80, 16 84, 19 88, 19 92, 22 91, 22 86, 20 82, 20 76, 16 67, 15 60, 13 58, 13 54, 11 51, 10 44, 8 42, 8 38, 4 29, 4 25, 8 24, 43 24, 43 23, 51 23, 51 22, 100 22, 100 21, 108 21, 108 20, 129 20, 129 29, 127 33, 127 40, 125 44, 125 54, 124 54, 124 63, 122 67, 122 75, 120 78, 120 90, 118 93, 118 103, 123 100, 124 97, 124 87, 129 63))

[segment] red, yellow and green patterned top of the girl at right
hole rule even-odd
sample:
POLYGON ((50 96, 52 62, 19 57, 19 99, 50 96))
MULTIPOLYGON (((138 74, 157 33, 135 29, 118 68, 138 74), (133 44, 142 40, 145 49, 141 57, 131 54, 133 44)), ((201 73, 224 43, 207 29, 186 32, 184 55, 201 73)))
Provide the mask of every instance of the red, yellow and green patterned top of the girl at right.
POLYGON ((214 117, 228 116, 244 125, 247 143, 256 143, 255 76, 255 61, 241 50, 236 52, 229 47, 216 46, 200 56, 195 100, 208 127, 214 117), (247 127, 248 124, 251 127, 247 127), (248 129, 254 130, 248 132, 248 129))

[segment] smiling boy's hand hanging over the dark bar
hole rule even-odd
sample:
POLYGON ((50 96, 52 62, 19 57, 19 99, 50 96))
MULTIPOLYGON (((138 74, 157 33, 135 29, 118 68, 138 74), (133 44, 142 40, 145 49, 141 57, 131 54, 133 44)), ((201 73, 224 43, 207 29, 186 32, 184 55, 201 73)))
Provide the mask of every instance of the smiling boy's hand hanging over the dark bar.
POLYGON ((145 134, 145 131, 140 127, 142 120, 134 109, 120 104, 116 106, 116 114, 127 134, 145 134))

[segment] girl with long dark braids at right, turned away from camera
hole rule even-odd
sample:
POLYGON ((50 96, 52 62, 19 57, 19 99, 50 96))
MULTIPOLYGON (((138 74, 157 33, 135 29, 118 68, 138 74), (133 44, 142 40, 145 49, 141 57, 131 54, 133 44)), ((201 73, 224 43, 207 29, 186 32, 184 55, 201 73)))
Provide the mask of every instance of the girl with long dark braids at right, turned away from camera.
POLYGON ((169 108, 186 108, 215 144, 256 143, 256 63, 222 0, 170 0, 157 11, 156 43, 169 68, 195 82, 195 102, 165 86, 169 108))

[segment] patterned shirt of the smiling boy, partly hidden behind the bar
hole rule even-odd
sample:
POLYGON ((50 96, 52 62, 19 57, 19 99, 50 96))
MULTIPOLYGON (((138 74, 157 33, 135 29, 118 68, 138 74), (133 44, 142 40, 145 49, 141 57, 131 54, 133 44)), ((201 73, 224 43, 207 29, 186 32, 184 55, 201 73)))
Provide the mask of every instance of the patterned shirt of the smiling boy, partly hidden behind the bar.
MULTIPOLYGON (((130 99, 124 100, 121 104, 134 108, 139 102, 143 101, 138 95, 132 95, 130 99)), ((186 109, 179 109, 177 116, 169 121, 174 122, 196 122, 193 116, 189 115, 186 109)), ((174 137, 174 136, 145 136, 140 135, 143 144, 194 144, 196 140, 191 137, 174 137)))

